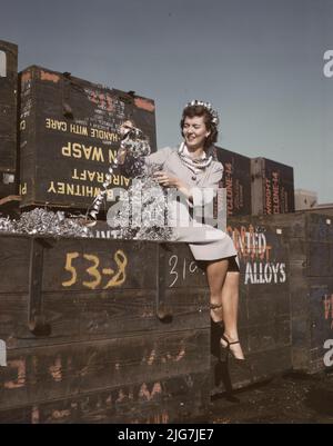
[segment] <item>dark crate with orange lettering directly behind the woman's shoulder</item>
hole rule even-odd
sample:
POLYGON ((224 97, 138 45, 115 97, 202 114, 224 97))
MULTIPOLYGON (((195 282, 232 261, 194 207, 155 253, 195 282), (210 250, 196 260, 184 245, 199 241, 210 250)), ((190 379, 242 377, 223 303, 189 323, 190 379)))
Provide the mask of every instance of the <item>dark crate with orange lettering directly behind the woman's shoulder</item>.
POLYGON ((251 215, 251 159, 222 147, 216 147, 216 155, 224 168, 228 217, 251 215))

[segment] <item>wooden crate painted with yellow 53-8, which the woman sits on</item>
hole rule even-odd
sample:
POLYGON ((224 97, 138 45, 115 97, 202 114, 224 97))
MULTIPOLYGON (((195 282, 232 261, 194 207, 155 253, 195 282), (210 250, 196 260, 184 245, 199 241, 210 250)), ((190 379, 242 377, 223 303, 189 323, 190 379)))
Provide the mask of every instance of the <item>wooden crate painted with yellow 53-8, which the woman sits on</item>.
POLYGON ((206 416, 209 293, 185 245, 7 235, 0 262, 0 423, 206 416))

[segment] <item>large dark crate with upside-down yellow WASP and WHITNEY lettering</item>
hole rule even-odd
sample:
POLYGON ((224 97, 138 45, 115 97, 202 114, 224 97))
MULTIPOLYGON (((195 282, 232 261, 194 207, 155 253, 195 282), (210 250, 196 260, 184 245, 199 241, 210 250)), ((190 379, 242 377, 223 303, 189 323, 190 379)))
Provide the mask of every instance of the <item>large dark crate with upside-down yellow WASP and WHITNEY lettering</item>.
MULTIPOLYGON (((29 67, 20 73, 21 207, 87 208, 103 187, 130 119, 157 150, 154 102, 70 73, 29 67)), ((117 170, 112 188, 129 186, 117 170)))

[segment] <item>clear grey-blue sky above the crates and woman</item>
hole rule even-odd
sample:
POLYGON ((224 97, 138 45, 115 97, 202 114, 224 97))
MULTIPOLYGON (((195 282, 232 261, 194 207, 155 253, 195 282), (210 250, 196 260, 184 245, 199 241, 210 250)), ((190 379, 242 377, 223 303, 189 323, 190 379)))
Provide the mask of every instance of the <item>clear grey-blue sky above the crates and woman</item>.
POLYGON ((219 143, 294 168, 333 202, 333 0, 3 1, 0 39, 40 65, 157 103, 159 147, 180 140, 185 102, 219 110, 219 143))

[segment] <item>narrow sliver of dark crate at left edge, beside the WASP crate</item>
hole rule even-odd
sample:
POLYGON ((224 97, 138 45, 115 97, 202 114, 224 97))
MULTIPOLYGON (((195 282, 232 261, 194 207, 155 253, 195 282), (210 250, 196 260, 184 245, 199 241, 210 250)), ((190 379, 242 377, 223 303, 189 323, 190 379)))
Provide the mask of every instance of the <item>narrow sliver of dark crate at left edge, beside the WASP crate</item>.
POLYGON ((17 192, 18 47, 0 40, 0 199, 17 192))

